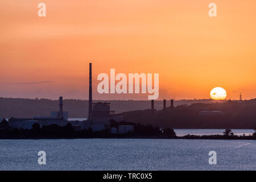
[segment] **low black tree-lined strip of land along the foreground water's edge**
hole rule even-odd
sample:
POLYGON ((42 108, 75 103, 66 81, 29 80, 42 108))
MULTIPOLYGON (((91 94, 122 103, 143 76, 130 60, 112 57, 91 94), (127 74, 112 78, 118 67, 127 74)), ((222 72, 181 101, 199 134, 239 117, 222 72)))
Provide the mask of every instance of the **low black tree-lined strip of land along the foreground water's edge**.
MULTIPOLYGON (((111 121, 112 126, 118 125, 118 122, 111 121)), ((127 122, 122 124, 128 124, 127 122)), ((151 125, 141 125, 140 123, 130 123, 134 126, 134 133, 112 134, 110 130, 102 130, 93 132, 92 129, 75 131, 69 123, 67 126, 60 127, 58 125, 49 125, 39 127, 38 124, 33 125, 31 130, 18 129, 1 129, 0 139, 76 139, 76 138, 139 138, 139 139, 256 139, 256 133, 252 136, 237 136, 232 130, 225 130, 224 135, 185 135, 177 137, 173 129, 166 128, 160 130, 159 127, 151 125)))

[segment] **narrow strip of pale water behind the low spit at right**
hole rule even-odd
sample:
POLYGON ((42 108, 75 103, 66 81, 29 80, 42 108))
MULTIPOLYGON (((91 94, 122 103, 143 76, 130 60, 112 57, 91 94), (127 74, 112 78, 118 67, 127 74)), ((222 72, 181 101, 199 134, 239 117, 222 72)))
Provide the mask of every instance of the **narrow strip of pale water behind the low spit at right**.
MULTIPOLYGON (((225 129, 175 129, 174 130, 178 137, 182 137, 184 135, 223 135, 225 129)), ((232 129, 234 135, 242 136, 245 134, 246 136, 253 135, 254 130, 250 129, 232 129)))

